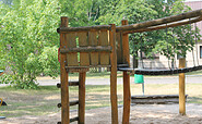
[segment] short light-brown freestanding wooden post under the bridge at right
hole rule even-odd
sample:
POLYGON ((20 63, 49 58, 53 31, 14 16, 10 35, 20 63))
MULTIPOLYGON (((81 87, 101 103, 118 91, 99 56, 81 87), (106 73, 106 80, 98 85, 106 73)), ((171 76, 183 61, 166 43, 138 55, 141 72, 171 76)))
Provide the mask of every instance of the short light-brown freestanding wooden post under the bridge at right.
MULTIPOLYGON (((186 67, 186 59, 179 59, 179 69, 186 67)), ((179 74, 179 113, 186 115, 186 76, 185 73, 179 74)))

